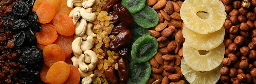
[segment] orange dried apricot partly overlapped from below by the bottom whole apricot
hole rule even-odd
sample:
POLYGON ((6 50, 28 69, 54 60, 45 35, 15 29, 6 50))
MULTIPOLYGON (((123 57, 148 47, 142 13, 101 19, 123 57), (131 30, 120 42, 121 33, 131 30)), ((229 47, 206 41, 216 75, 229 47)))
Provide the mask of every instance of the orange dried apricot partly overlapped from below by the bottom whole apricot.
POLYGON ((52 66, 55 62, 65 61, 66 56, 59 45, 48 44, 43 48, 43 60, 47 66, 52 66))

